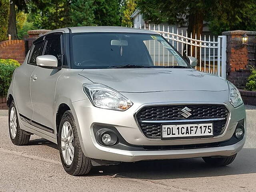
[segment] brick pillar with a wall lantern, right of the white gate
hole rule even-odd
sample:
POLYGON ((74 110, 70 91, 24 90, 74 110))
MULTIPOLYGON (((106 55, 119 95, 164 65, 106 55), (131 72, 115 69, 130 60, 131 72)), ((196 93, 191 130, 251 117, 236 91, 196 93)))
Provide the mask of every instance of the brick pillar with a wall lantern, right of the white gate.
POLYGON ((250 75, 250 66, 256 66, 256 32, 255 31, 227 31, 227 79, 237 88, 244 89, 250 75), (242 35, 248 36, 247 45, 242 45, 242 35))

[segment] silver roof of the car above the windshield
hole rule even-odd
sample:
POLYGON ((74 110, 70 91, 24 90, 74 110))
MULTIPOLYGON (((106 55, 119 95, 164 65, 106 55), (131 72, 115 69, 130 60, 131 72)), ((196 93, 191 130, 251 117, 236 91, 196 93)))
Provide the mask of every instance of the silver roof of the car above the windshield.
POLYGON ((86 33, 86 32, 121 32, 121 33, 145 33, 158 35, 157 32, 130 28, 130 27, 118 27, 118 26, 82 26, 82 27, 68 27, 56 29, 48 32, 47 34, 53 32, 65 32, 65 33, 86 33))

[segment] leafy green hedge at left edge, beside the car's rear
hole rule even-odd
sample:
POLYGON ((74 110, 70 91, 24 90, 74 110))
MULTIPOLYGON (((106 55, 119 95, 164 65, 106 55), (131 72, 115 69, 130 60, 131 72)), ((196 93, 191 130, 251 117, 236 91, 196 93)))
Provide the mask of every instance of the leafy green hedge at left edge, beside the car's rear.
POLYGON ((13 59, 0 59, 0 97, 6 97, 12 81, 12 74, 20 63, 13 59))

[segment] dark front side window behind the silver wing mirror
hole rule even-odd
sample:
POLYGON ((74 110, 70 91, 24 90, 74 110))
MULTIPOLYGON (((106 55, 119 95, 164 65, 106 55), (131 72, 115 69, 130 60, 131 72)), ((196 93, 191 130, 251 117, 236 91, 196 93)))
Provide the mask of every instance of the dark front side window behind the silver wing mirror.
POLYGON ((53 55, 58 60, 58 66, 62 63, 62 54, 60 47, 60 36, 49 38, 46 40, 46 46, 44 49, 44 55, 53 55))

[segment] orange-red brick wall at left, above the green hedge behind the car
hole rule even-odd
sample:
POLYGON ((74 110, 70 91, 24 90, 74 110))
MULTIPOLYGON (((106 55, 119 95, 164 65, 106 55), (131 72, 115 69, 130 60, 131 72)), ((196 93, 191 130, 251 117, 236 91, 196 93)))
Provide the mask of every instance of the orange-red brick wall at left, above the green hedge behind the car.
POLYGON ((11 58, 22 64, 25 57, 26 52, 24 40, 8 40, 0 42, 0 58, 11 58))

